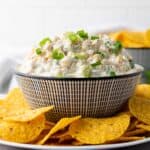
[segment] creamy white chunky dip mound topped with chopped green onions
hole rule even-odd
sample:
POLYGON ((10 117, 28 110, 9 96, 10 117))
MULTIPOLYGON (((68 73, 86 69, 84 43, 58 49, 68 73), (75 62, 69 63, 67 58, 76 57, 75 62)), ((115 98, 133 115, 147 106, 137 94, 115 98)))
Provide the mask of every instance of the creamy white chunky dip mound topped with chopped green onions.
POLYGON ((139 70, 119 41, 107 35, 89 36, 83 30, 53 40, 44 38, 18 70, 48 77, 102 77, 139 70))

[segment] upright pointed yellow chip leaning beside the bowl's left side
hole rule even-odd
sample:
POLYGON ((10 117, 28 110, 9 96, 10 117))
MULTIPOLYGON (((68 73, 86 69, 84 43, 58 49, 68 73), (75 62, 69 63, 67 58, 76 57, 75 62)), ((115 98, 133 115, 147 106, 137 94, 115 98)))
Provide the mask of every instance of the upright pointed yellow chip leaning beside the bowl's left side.
POLYGON ((22 113, 30 110, 23 93, 19 88, 11 90, 0 104, 0 118, 22 113))

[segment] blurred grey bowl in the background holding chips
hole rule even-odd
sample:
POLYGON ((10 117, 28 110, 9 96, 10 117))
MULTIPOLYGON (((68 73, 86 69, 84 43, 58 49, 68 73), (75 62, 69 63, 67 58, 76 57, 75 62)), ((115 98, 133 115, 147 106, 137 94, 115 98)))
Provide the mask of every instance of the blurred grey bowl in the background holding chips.
POLYGON ((133 57, 135 63, 140 64, 144 67, 145 71, 142 74, 141 81, 150 82, 150 48, 126 48, 126 50, 133 57))

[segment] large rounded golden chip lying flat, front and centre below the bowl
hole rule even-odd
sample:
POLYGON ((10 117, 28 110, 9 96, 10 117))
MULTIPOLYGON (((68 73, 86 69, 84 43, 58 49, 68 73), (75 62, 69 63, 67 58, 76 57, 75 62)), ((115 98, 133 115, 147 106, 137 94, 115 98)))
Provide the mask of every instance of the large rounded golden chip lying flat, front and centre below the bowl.
POLYGON ((129 123, 126 113, 101 119, 83 118, 70 125, 69 134, 84 144, 102 144, 123 135, 129 123))

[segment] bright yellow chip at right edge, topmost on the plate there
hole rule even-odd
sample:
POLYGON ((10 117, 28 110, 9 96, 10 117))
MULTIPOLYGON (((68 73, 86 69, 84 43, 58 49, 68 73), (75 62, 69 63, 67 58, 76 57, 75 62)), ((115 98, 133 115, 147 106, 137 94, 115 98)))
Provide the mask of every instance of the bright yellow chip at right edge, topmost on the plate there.
POLYGON ((149 84, 137 85, 135 89, 135 95, 150 99, 150 85, 149 84))

